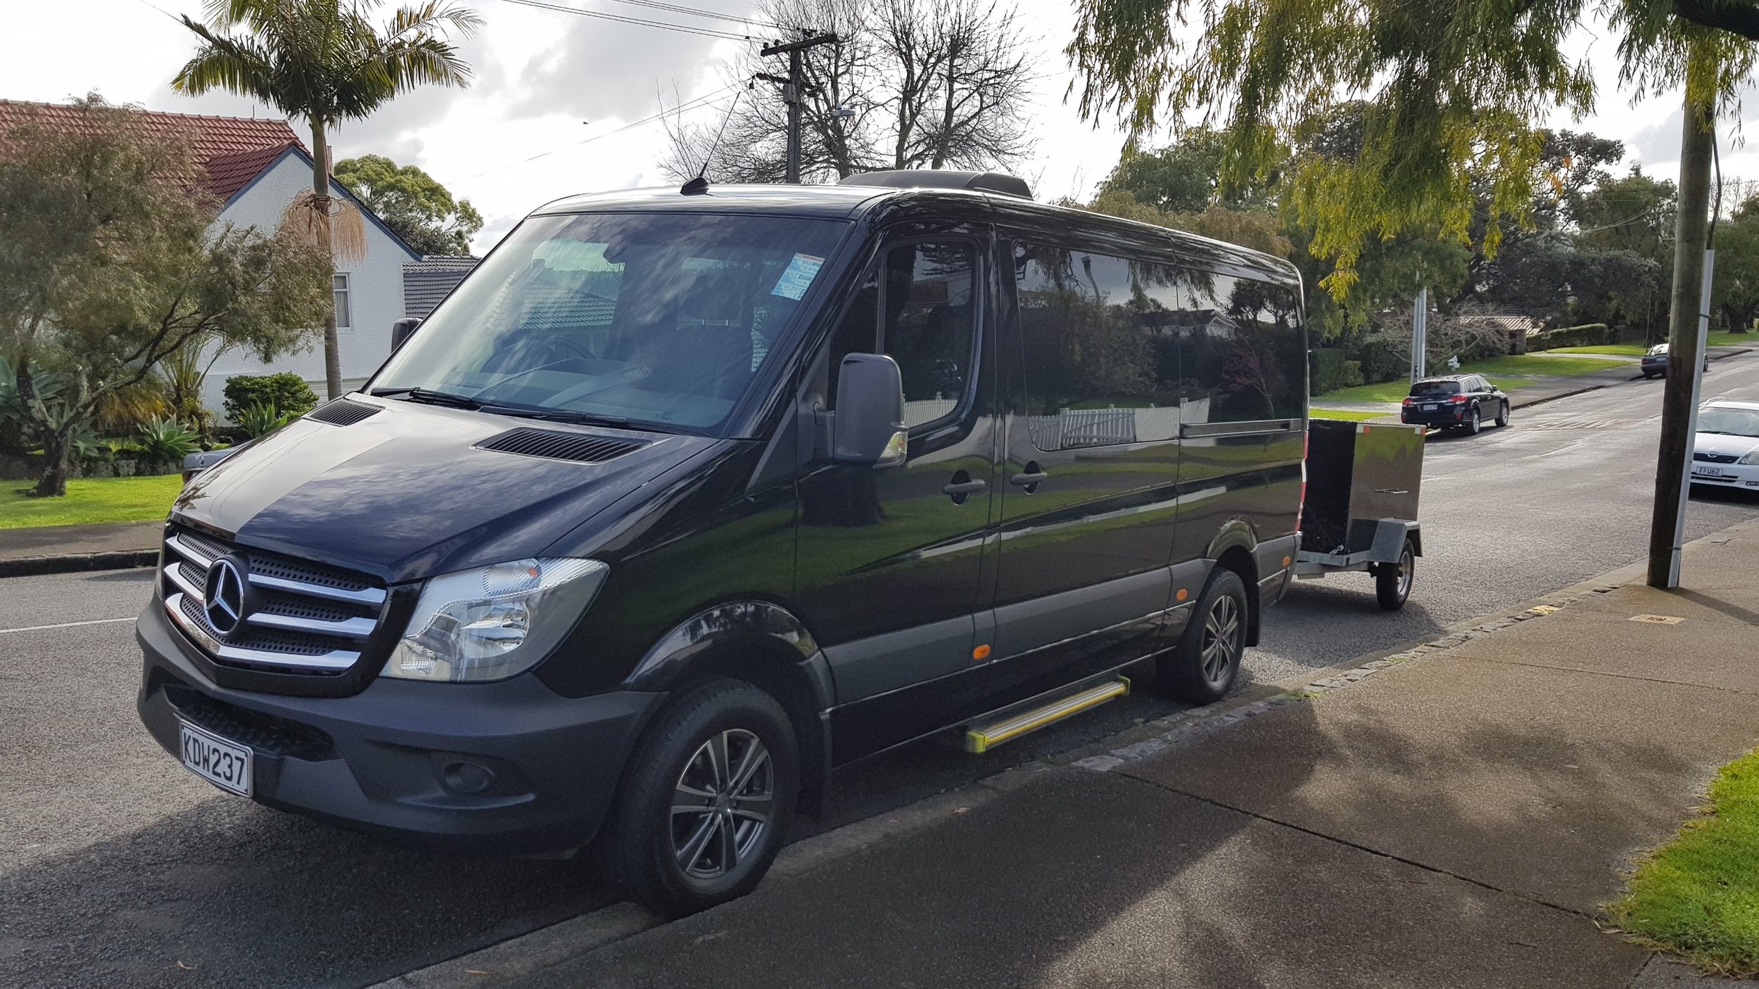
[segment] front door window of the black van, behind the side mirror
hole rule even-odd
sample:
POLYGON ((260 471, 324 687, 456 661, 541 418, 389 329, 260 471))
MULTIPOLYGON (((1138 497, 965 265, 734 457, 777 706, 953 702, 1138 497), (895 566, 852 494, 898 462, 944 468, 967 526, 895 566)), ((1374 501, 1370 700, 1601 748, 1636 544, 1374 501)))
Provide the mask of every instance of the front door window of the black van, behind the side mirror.
POLYGON ((885 252, 832 336, 830 405, 846 354, 878 352, 904 378, 904 421, 922 426, 959 408, 976 371, 976 246, 911 243, 885 252))

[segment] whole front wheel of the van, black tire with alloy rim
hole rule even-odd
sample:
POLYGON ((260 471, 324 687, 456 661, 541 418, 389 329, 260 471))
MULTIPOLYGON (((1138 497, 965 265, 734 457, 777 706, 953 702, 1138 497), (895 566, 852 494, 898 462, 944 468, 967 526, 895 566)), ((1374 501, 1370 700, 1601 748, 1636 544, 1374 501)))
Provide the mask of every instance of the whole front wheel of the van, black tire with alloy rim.
POLYGON ((663 917, 751 892, 793 820, 799 764, 793 727, 774 697, 737 679, 686 688, 624 769, 598 841, 607 878, 663 917), (744 781, 728 780, 728 767, 744 771, 744 781), (730 788, 746 795, 723 797, 730 788))

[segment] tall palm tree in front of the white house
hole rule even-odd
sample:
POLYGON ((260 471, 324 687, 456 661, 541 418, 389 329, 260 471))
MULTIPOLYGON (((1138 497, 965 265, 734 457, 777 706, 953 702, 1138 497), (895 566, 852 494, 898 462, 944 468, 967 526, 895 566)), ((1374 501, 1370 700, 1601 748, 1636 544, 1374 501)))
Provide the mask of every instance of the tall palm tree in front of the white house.
MULTIPOLYGON (((368 14, 380 0, 208 0, 208 23, 183 18, 202 39, 195 58, 171 81, 190 95, 230 90, 255 97, 311 128, 311 197, 301 197, 310 231, 332 250, 329 195, 331 125, 362 120, 422 83, 468 86, 470 65, 447 32, 470 37, 482 18, 427 0, 399 7, 383 28, 368 14)), ((324 319, 324 377, 341 394, 336 310, 324 319)))

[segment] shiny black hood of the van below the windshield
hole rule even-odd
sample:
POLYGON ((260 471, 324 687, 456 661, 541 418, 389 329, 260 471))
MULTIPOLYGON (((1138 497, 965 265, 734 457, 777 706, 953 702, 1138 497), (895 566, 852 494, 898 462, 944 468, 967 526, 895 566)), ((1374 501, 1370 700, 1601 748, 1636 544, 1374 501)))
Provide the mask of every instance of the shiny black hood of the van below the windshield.
POLYGON ((602 429, 366 396, 350 426, 297 419, 199 473, 171 509, 245 546, 387 582, 540 556, 721 440, 602 429), (508 429, 644 443, 603 463, 480 449, 508 429))

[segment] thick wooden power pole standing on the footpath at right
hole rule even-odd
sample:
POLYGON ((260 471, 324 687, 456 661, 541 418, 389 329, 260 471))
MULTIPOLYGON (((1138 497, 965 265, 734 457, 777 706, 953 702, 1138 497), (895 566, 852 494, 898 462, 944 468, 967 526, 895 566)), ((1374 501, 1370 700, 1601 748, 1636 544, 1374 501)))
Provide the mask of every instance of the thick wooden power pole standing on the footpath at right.
MULTIPOLYGON (((1687 92, 1694 92, 1689 83, 1687 92)), ((1692 426, 1697 377, 1704 354, 1699 322, 1708 320, 1710 158, 1715 153, 1715 107, 1685 100, 1680 134, 1680 216, 1673 245, 1673 297, 1668 311, 1668 387, 1660 399, 1660 452, 1655 463, 1655 509, 1650 517, 1648 584, 1680 586, 1680 538, 1690 487, 1692 426)))

